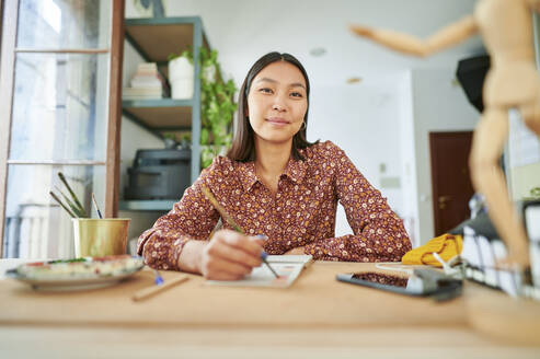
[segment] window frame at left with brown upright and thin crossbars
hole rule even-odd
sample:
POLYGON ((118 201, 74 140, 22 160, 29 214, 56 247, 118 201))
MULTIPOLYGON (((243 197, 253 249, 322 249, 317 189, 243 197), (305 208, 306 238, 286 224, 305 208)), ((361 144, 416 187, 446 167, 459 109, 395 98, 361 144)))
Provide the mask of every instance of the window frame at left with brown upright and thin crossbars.
MULTIPOLYGON (((108 1, 108 0, 107 0, 108 1)), ((66 54, 103 54, 108 53, 108 120, 107 148, 105 159, 105 217, 114 218, 118 213, 119 198, 119 151, 122 125, 122 63, 124 57, 124 11, 125 0, 112 0, 111 4, 111 42, 107 49, 23 49, 16 48, 20 0, 0 0, 0 258, 3 257, 5 225, 5 201, 9 164, 23 164, 10 161, 11 123, 13 113, 13 85, 15 78, 15 56, 18 53, 66 53, 66 54), (11 21, 15 19, 15 21, 11 21), (9 20, 9 21, 8 21, 9 20)), ((103 165, 91 161, 26 161, 27 165, 103 165), (45 162, 45 163, 44 163, 45 162), (48 163, 50 162, 50 163, 48 163)))

